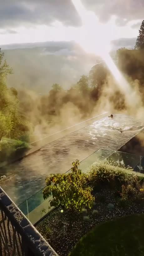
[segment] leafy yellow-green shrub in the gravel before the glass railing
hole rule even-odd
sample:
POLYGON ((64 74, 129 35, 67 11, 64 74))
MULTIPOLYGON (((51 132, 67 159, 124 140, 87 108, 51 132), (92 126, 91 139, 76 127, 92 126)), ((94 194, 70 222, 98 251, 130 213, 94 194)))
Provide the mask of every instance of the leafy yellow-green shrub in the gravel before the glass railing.
POLYGON ((47 186, 43 190, 44 199, 52 194, 51 206, 58 206, 61 203, 67 209, 79 211, 84 207, 91 208, 94 197, 91 195, 92 189, 86 185, 89 177, 78 169, 79 160, 72 165, 70 173, 50 174, 45 179, 47 186))

